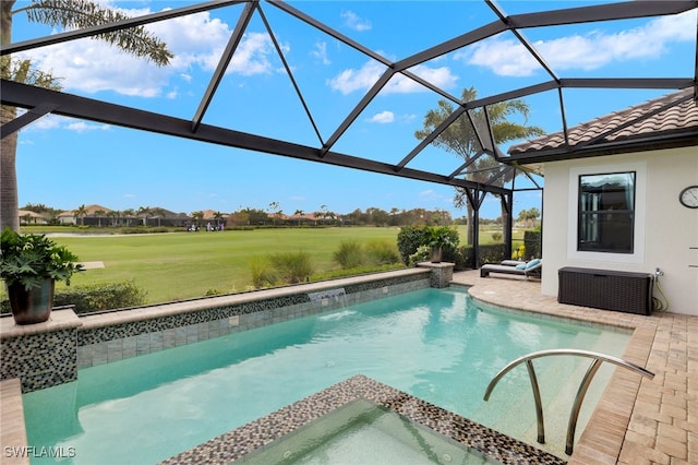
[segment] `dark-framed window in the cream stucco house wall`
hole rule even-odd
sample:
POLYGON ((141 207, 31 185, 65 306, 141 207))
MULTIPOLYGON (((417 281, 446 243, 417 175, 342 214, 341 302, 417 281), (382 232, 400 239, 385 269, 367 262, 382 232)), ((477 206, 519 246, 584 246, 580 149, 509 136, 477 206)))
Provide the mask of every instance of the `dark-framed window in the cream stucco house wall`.
POLYGON ((579 176, 578 251, 634 252, 635 175, 579 176))

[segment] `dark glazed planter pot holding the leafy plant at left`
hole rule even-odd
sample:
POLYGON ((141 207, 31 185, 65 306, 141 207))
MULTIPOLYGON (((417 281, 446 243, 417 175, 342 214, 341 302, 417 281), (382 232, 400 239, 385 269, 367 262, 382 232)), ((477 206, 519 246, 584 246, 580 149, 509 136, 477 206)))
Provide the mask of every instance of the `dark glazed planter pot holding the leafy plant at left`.
POLYGON ((26 290, 24 285, 14 283, 8 286, 12 317, 16 324, 43 323, 51 315, 53 308, 55 282, 44 279, 39 287, 26 290))

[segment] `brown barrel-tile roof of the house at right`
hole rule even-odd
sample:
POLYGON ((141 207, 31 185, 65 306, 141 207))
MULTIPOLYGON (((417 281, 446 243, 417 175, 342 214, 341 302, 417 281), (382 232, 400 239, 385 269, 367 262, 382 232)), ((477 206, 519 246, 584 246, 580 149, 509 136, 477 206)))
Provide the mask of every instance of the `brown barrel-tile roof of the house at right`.
POLYGON ((693 95, 688 87, 575 126, 567 131, 569 145, 559 131, 513 145, 508 154, 512 159, 526 155, 527 160, 540 162, 698 145, 698 104, 693 95))

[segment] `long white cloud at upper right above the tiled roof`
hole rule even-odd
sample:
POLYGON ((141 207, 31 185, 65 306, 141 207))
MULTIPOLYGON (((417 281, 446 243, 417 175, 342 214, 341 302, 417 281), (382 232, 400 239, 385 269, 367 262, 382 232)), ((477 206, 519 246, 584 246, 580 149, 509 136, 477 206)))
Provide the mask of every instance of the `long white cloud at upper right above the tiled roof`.
MULTIPOLYGON (((652 20, 628 31, 613 34, 593 31, 586 35, 538 40, 533 46, 553 70, 594 70, 613 61, 658 58, 673 41, 694 40, 695 28, 696 12, 689 11, 652 20)), ((483 40, 472 50, 457 53, 456 58, 489 68, 500 75, 526 76, 540 70, 526 48, 513 39, 483 40)))

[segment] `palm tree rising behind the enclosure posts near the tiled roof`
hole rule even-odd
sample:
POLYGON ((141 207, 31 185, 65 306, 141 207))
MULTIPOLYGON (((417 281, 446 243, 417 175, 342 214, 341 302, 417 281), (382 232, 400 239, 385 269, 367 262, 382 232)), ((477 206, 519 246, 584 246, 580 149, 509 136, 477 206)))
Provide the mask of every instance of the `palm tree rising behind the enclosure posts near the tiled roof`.
MULTIPOLYGON (((464 103, 472 102, 477 98, 478 92, 474 87, 464 88, 461 100, 464 103)), ((431 109, 424 116, 424 128, 414 132, 414 136, 419 140, 423 140, 429 136, 436 128, 438 128, 445 120, 454 112, 454 106, 450 102, 442 99, 437 102, 438 108, 431 109)), ((473 119, 484 118, 484 112, 476 110, 473 112, 473 119)), ((537 126, 525 126, 512 122, 508 120, 514 115, 520 115, 528 120, 529 106, 526 102, 520 99, 500 102, 488 106, 488 116, 490 117, 490 124, 492 127, 492 134, 496 144, 502 144, 508 141, 517 139, 528 139, 544 134, 542 128, 537 126)), ((492 176, 493 169, 496 168, 500 163, 494 156, 486 154, 480 156, 481 147, 478 142, 470 120, 461 116, 455 122, 453 122, 444 132, 436 138, 432 144, 435 146, 450 152, 461 157, 464 162, 471 163, 469 174, 466 179, 474 182, 488 182, 492 176)), ((513 174, 507 177, 503 176, 498 178, 494 184, 504 186, 512 179, 513 174)), ((472 243, 473 239, 473 208, 466 190, 462 188, 456 188, 454 195, 454 205, 456 207, 466 206, 468 211, 468 243, 472 243)), ((502 212, 503 216, 505 212, 502 212)))

